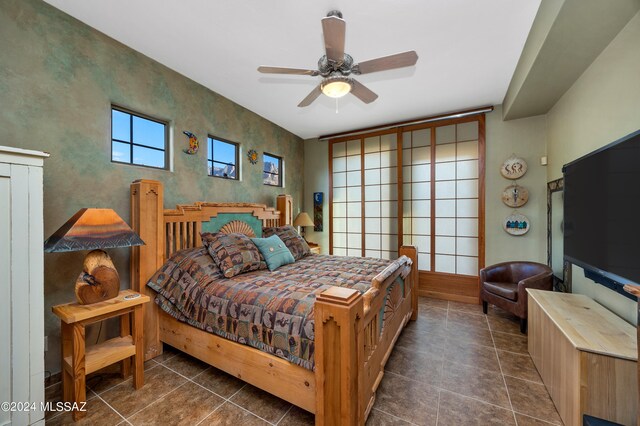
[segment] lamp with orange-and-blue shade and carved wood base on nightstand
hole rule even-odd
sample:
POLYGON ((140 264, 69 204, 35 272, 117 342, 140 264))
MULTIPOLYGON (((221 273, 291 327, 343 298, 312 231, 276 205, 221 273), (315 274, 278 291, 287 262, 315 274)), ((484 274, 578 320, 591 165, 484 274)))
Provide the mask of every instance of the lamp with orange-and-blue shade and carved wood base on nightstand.
POLYGON ((44 251, 92 250, 76 280, 76 300, 88 305, 112 299, 120 291, 118 272, 103 249, 140 245, 144 241, 113 210, 81 209, 47 238, 44 251))

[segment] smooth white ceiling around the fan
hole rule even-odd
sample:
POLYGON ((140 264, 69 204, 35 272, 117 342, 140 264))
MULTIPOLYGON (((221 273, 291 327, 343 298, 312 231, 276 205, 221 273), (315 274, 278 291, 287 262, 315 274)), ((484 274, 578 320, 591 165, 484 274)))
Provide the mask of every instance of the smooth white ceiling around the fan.
POLYGON ((540 0, 46 0, 302 138, 502 103, 540 0), (414 67, 357 76, 379 95, 297 104, 321 77, 320 19, 347 21, 355 62, 406 50, 414 67))

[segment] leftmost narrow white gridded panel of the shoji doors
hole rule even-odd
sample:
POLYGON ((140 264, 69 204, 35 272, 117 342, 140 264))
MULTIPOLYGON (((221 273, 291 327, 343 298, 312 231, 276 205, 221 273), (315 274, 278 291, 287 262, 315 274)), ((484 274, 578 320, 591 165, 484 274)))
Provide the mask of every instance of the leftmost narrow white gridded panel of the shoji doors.
POLYGON ((331 145, 332 253, 362 256, 362 143, 360 139, 331 145))

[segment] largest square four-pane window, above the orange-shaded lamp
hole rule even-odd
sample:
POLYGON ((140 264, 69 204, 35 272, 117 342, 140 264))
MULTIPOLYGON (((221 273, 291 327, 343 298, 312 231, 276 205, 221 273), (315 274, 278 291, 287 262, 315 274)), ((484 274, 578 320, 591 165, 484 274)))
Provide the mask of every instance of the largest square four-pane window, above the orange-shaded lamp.
POLYGON ((111 107, 111 161, 167 169, 166 122, 111 107))

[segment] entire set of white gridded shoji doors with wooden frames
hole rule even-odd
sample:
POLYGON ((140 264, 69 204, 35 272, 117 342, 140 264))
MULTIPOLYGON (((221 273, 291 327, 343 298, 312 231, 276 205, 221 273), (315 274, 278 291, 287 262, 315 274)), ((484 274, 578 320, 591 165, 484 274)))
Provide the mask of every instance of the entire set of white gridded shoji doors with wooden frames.
POLYGON ((484 266, 484 115, 329 145, 331 252, 393 259, 400 245, 413 244, 422 294, 476 302, 484 266))

